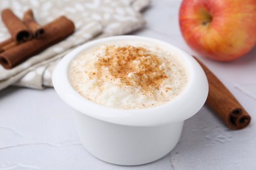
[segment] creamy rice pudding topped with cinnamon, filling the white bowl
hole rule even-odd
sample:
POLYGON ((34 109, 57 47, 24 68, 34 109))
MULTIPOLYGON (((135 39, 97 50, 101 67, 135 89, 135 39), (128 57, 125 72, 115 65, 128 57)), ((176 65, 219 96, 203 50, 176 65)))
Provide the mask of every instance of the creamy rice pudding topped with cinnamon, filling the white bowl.
POLYGON ((117 109, 146 109, 173 100, 188 77, 179 56, 156 44, 110 42, 70 65, 70 82, 83 97, 117 109))

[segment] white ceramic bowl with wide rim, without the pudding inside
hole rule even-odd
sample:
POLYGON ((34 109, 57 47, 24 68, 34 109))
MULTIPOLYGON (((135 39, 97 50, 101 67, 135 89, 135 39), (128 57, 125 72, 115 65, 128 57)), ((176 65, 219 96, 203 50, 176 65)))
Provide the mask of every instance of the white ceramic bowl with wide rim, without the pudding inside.
POLYGON ((208 93, 205 73, 192 56, 167 42, 130 35, 98 39, 79 46, 54 69, 53 86, 60 98, 74 109, 83 146, 96 158, 118 165, 140 165, 165 156, 178 143, 184 120, 202 108, 208 93), (71 61, 81 52, 106 42, 131 40, 154 42, 182 58, 188 84, 178 97, 158 107, 124 110, 93 103, 72 88, 68 71, 71 61))

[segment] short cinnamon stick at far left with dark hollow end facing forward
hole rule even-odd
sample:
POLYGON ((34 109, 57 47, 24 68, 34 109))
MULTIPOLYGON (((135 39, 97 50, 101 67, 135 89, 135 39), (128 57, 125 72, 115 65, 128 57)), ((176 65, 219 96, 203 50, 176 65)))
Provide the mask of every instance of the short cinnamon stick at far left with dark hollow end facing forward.
POLYGON ((12 35, 12 39, 18 43, 31 39, 32 35, 28 27, 10 9, 3 10, 1 16, 3 23, 12 35))

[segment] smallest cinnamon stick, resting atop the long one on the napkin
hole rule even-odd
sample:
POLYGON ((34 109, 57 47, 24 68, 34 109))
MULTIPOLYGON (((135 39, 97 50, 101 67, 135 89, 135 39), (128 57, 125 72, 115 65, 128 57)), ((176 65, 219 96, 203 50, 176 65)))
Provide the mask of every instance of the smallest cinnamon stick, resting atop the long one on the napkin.
POLYGON ((35 22, 35 18, 33 16, 33 12, 31 9, 25 12, 23 16, 23 22, 30 29, 35 39, 41 37, 45 33, 45 30, 43 29, 43 27, 41 27, 41 25, 35 22))

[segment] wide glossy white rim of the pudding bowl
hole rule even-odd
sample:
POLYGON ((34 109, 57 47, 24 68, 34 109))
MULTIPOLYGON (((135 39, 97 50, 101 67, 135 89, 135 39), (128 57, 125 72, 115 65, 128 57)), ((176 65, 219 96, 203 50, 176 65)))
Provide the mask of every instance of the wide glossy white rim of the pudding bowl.
POLYGON ((73 109, 98 120, 125 126, 160 126, 171 122, 184 121, 202 108, 208 94, 207 78, 196 59, 168 42, 137 35, 121 35, 86 42, 60 60, 53 71, 52 80, 56 93, 73 109), (182 92, 175 99, 163 105, 131 110, 99 105, 77 93, 70 84, 68 74, 72 59, 93 46, 115 41, 152 42, 178 54, 184 61, 188 74, 188 82, 182 92))

